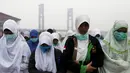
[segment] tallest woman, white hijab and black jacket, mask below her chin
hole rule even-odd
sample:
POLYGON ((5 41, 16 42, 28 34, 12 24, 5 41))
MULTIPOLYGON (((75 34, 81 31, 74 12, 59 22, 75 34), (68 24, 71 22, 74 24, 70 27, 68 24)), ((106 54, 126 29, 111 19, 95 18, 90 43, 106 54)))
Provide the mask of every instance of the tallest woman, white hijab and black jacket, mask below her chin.
POLYGON ((76 18, 77 39, 68 38, 65 44, 66 49, 63 52, 61 64, 73 73, 98 73, 97 68, 103 65, 104 54, 99 41, 88 34, 90 19, 86 15, 76 18), (77 44, 77 46, 74 46, 77 44), (76 62, 73 58, 74 49, 76 52, 76 62))

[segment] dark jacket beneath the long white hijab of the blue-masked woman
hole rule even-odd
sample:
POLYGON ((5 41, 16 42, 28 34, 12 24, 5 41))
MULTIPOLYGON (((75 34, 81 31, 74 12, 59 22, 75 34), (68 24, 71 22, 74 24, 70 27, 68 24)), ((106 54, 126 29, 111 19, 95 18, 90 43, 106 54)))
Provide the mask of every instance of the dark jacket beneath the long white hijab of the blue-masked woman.
MULTIPOLYGON (((58 73, 59 67, 60 67, 60 65, 59 65, 60 61, 59 60, 60 60, 60 56, 61 56, 62 53, 58 49, 55 49, 54 52, 55 52, 55 61, 56 61, 57 73, 58 73)), ((37 68, 35 67, 35 64, 36 64, 36 62, 35 62, 35 52, 33 52, 30 56, 30 59, 29 59, 29 65, 28 65, 29 73, 52 73, 52 72, 46 72, 46 71, 43 72, 43 71, 37 70, 37 68)))

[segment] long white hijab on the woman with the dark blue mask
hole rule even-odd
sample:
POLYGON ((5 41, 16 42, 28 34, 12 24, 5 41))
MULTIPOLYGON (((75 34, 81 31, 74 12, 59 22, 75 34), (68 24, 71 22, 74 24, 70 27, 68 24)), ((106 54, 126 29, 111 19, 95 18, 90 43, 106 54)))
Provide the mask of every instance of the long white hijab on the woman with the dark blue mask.
POLYGON ((35 61, 35 66, 38 70, 49 71, 52 73, 57 72, 54 47, 52 44, 52 35, 49 32, 42 32, 39 36, 39 44, 35 51, 35 61), (51 46, 50 51, 43 53, 42 50, 39 48, 42 44, 47 44, 51 46))

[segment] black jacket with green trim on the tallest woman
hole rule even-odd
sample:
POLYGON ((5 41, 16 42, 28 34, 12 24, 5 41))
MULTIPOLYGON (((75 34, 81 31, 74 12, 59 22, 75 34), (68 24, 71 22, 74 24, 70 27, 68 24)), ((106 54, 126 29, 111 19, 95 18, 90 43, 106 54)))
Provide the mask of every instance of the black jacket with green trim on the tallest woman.
MULTIPOLYGON (((102 51, 101 45, 99 41, 89 35, 89 41, 92 43, 93 47, 96 49, 96 53, 93 53, 93 49, 90 52, 90 60, 88 62, 84 62, 84 65, 87 65, 92 61, 93 67, 102 67, 103 60, 104 60, 104 53, 102 51)), ((66 73, 67 70, 73 73, 80 73, 81 65, 76 63, 73 60, 73 53, 74 53, 74 41, 72 37, 69 37, 65 43, 66 50, 63 51, 61 56, 61 71, 62 73, 66 73)), ((92 73, 98 73, 98 70, 94 70, 92 73)))

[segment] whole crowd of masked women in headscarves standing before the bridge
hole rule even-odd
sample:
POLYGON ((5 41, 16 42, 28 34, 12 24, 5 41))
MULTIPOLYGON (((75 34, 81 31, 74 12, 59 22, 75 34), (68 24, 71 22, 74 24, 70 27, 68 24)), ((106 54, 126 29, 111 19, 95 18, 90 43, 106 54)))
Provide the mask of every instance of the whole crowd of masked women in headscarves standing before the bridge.
POLYGON ((8 19, 0 38, 0 73, 129 73, 128 24, 115 21, 104 38, 99 29, 89 33, 90 18, 78 16, 76 32, 63 40, 57 31, 19 31, 8 19))

